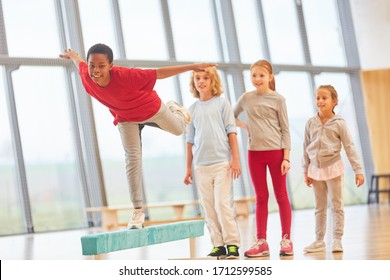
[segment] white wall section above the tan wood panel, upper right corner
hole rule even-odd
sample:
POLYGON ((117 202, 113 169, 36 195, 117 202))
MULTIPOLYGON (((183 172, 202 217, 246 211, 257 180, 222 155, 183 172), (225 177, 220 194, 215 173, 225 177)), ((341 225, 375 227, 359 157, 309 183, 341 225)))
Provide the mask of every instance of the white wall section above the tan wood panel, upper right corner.
POLYGON ((350 3, 362 70, 390 68, 390 1, 350 3))

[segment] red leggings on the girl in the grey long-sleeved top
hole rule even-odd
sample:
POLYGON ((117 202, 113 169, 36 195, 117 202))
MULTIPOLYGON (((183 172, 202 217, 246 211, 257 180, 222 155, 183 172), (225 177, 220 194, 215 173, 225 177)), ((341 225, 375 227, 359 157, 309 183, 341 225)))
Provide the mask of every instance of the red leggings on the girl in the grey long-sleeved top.
POLYGON ((268 185, 267 166, 272 178, 275 198, 279 205, 282 237, 290 239, 291 206, 286 188, 286 175, 281 175, 283 150, 248 151, 248 165, 252 183, 256 192, 256 227, 257 238, 267 239, 268 220, 268 185))

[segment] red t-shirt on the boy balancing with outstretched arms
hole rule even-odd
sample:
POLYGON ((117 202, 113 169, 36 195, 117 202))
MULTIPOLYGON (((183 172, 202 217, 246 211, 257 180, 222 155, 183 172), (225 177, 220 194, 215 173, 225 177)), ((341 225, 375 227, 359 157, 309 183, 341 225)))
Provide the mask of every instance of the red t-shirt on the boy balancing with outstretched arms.
POLYGON ((156 69, 138 69, 113 66, 110 83, 100 87, 88 74, 88 65, 79 64, 79 74, 85 90, 100 103, 107 106, 118 122, 141 122, 154 116, 161 106, 161 99, 153 90, 156 84, 156 69))

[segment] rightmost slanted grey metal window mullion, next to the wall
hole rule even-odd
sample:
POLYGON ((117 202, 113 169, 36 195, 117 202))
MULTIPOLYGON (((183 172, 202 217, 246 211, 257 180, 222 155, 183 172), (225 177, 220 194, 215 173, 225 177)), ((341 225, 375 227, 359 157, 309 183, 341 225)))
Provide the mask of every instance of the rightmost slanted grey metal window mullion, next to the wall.
MULTIPOLYGON (((339 11, 340 26, 342 29, 344 48, 348 67, 360 69, 357 41, 353 27, 351 6, 349 0, 337 0, 339 11)), ((367 178, 374 174, 374 164, 371 154, 371 143, 364 106, 364 97, 361 88, 360 72, 352 71, 349 74, 351 91, 353 93, 353 102, 355 105, 356 120, 359 130, 360 144, 362 147, 363 163, 367 178)))

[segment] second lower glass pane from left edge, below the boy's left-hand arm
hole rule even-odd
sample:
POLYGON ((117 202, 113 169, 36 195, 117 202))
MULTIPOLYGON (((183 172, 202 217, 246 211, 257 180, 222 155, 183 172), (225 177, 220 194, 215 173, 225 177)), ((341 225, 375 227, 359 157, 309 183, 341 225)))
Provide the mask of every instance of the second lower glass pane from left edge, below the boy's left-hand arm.
POLYGON ((84 226, 64 69, 23 66, 12 77, 34 228, 84 226))

